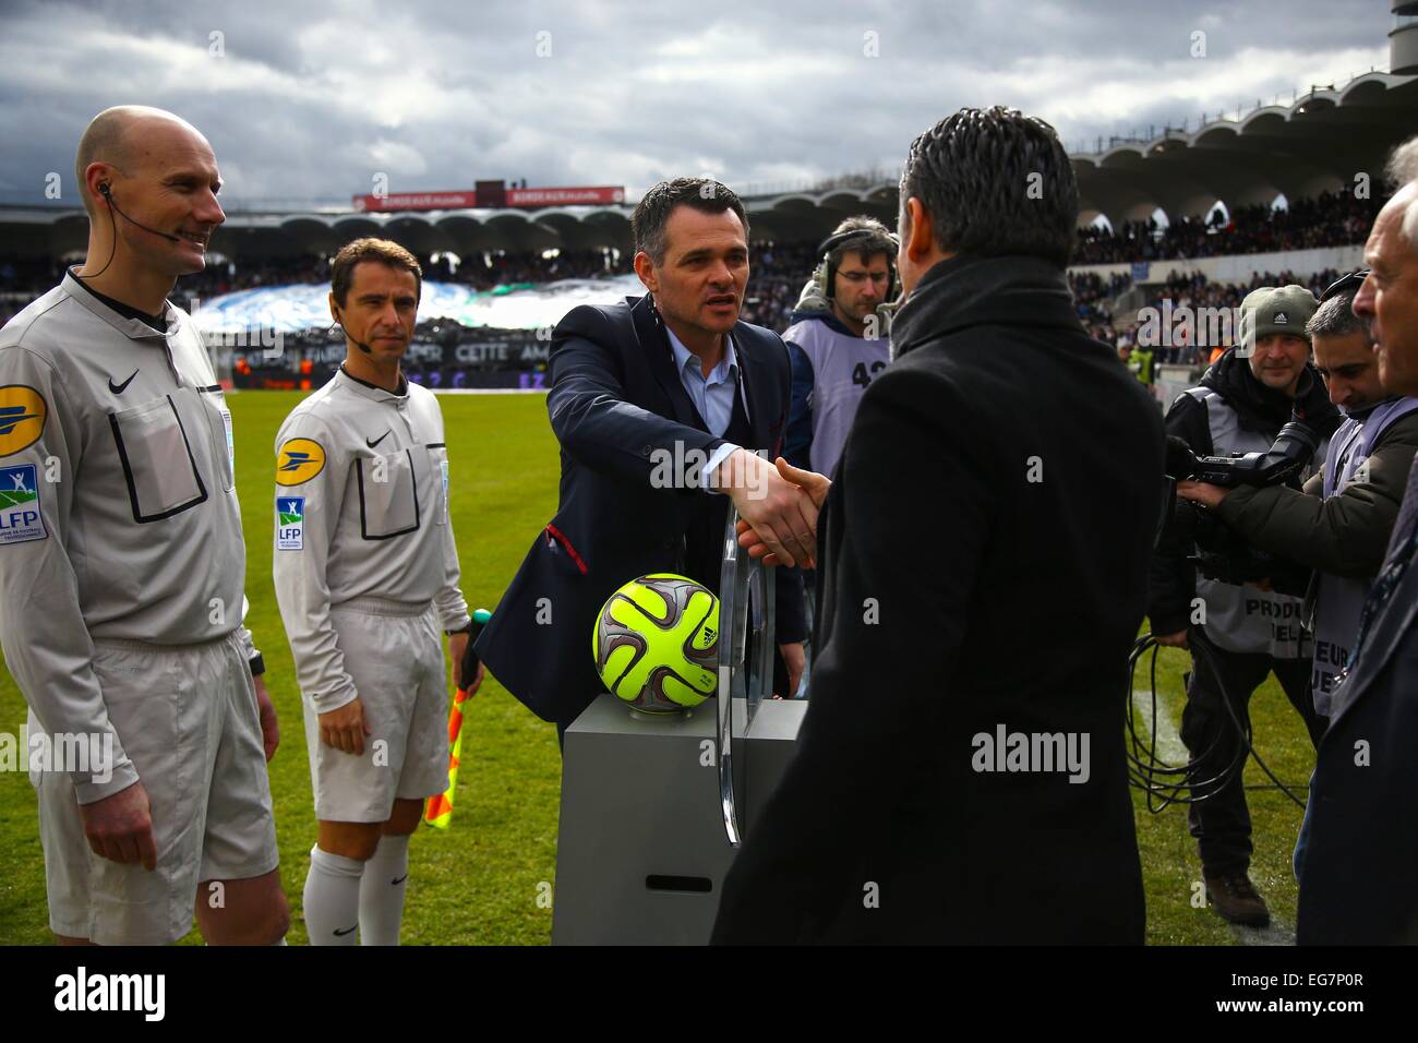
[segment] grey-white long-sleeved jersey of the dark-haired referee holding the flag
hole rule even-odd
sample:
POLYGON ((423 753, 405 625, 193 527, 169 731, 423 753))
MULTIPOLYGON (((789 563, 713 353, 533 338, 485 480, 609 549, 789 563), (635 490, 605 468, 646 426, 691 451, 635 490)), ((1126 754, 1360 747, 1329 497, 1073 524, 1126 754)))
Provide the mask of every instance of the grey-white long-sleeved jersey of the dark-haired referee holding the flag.
POLYGON ((330 609, 377 597, 469 622, 448 518, 442 410, 404 380, 396 394, 342 366, 277 436, 272 570, 301 691, 316 712, 359 692, 330 609))

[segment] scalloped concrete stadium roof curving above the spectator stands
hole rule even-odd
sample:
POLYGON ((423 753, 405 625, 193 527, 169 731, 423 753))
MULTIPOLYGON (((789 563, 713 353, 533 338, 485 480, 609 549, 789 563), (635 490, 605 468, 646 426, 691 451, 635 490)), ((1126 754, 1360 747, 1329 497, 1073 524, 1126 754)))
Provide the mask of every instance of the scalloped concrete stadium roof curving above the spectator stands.
MULTIPOLYGON (((1397 143, 1418 133, 1418 77, 1371 72, 1341 88, 1314 89, 1293 104, 1266 105, 1242 118, 1218 118, 1195 131, 1166 129, 1150 140, 1113 142, 1106 150, 1073 153, 1079 183, 1079 223, 1099 214, 1109 221, 1146 219, 1159 207, 1168 216, 1205 214, 1219 200, 1228 207, 1271 203, 1279 193, 1300 199, 1353 189, 1368 175, 1381 194, 1384 160, 1397 143)), ((871 214, 893 226, 896 183, 784 192, 746 197, 753 237, 783 243, 827 236, 849 214, 871 214)), ((234 260, 333 253, 360 236, 383 236, 421 254, 451 251, 580 250, 630 245, 631 207, 567 206, 545 210, 354 210, 238 211, 211 240, 214 253, 234 260)), ((0 206, 0 254, 62 257, 81 254, 88 223, 79 209, 0 206)))

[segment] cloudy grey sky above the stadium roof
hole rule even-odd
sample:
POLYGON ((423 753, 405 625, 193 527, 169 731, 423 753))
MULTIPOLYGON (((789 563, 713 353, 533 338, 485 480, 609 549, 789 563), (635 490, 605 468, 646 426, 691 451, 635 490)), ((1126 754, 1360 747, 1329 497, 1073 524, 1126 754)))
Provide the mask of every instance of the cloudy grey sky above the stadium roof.
POLYGON ((1387 68, 1387 0, 0 0, 0 203, 69 194, 108 105, 211 140, 228 209, 895 170, 963 105, 1071 146, 1387 68), (294 11, 299 11, 295 14, 294 11), (1283 17, 1276 17, 1283 11, 1283 17), (1202 34, 1202 35, 1198 35, 1202 34), (1195 54, 1204 51, 1204 54, 1195 54))

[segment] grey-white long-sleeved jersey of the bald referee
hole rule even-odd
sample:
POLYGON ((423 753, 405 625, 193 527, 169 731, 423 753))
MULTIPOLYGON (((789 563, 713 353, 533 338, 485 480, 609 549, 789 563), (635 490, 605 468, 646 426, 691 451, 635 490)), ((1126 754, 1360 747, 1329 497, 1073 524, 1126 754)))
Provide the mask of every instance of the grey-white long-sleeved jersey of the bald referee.
POLYGON ((111 779, 71 772, 79 803, 138 780, 92 641, 197 644, 242 617, 231 414, 191 316, 166 319, 65 274, 0 331, 0 643, 45 732, 112 735, 111 779))

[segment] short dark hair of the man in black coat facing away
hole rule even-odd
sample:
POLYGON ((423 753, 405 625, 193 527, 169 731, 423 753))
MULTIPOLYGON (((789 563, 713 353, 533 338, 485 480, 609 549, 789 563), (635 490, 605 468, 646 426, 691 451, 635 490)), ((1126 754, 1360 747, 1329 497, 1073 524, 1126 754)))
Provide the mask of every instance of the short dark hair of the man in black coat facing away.
POLYGON ((910 143, 900 177, 920 200, 942 250, 1041 257, 1066 267, 1078 224, 1078 182, 1054 128, 1018 109, 960 109, 910 143))

